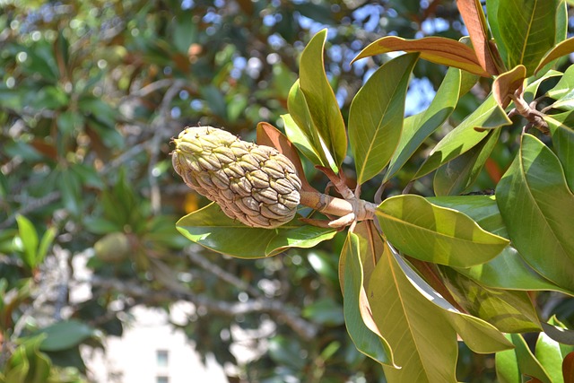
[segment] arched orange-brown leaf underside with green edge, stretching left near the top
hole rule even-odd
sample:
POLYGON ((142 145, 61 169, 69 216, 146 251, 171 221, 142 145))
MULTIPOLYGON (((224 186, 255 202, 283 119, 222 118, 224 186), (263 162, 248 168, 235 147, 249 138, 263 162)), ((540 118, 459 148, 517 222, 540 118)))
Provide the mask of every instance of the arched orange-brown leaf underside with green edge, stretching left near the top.
POLYGON ((364 57, 381 55, 388 52, 404 50, 405 52, 419 52, 421 58, 432 63, 453 66, 472 74, 490 77, 476 57, 473 48, 460 41, 441 37, 426 37, 422 39, 403 39, 396 36, 386 36, 378 39, 367 48, 361 50, 352 62, 364 57))

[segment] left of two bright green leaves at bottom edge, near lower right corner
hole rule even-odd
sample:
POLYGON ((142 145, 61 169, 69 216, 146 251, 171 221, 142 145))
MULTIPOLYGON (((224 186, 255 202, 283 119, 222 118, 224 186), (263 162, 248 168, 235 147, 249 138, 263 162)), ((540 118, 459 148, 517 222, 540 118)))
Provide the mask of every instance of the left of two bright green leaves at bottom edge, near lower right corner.
POLYGON ((506 335, 514 350, 496 353, 496 375, 500 383, 522 383, 522 376, 526 375, 539 379, 543 383, 552 383, 552 380, 528 349, 524 338, 520 334, 506 335))

